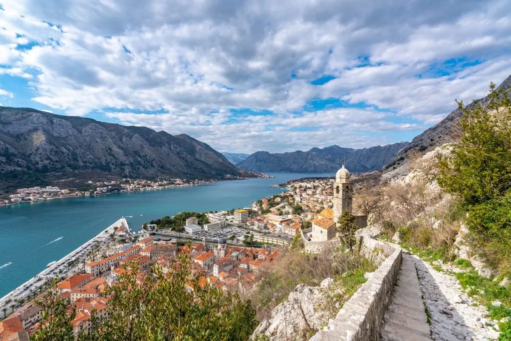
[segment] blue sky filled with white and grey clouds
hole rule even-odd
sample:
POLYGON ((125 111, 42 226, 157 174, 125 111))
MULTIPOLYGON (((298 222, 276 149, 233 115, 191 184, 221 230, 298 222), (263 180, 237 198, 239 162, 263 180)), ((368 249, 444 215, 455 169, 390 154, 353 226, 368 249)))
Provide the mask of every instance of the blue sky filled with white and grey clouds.
POLYGON ((217 150, 410 141, 511 74, 509 0, 0 0, 0 104, 217 150))

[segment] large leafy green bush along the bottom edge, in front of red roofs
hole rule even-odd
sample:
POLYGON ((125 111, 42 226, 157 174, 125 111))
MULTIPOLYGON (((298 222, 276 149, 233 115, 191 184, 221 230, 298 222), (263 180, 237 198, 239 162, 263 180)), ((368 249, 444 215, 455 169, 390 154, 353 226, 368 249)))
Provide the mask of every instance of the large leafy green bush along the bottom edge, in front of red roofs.
MULTIPOLYGON (((175 269, 163 274, 155 268, 139 285, 133 275, 138 266, 128 264, 127 271, 107 292, 112 295, 108 319, 91 319, 92 331, 80 334, 79 340, 247 340, 259 323, 253 304, 237 294, 198 286, 191 269, 190 258, 181 255, 175 269)), ((70 320, 64 315, 67 311, 56 311, 54 318, 59 320, 54 329, 68 336, 70 320)), ((44 337, 46 330, 40 329, 34 339, 57 339, 44 337)))

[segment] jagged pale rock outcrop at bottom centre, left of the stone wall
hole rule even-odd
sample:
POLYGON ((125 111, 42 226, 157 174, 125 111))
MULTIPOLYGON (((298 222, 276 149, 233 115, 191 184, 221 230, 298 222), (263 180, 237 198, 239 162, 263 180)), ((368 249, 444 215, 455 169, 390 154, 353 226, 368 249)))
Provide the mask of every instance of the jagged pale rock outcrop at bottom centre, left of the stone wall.
POLYGON ((268 320, 263 320, 253 335, 265 334, 270 340, 307 339, 329 320, 329 313, 322 307, 326 291, 333 280, 327 278, 318 287, 305 284, 296 286, 283 303, 277 305, 268 320))

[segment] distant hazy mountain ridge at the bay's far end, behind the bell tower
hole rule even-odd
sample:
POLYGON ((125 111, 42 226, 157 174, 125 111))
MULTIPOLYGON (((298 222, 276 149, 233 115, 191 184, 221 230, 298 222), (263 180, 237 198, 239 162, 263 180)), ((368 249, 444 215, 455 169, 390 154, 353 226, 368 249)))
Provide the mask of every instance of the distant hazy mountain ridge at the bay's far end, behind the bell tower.
POLYGON ((350 171, 366 172, 380 170, 398 151, 408 146, 408 142, 394 143, 364 149, 342 148, 337 145, 312 148, 309 151, 290 153, 268 153, 258 151, 237 166, 254 172, 335 172, 346 159, 350 171))

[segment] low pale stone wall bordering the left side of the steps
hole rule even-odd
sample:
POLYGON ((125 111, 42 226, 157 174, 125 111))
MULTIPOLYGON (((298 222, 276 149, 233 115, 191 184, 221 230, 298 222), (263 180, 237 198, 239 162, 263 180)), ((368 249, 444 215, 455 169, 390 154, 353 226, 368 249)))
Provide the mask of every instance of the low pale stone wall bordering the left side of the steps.
POLYGON ((399 245, 367 237, 361 237, 361 248, 376 257, 376 263, 382 261, 381 265, 311 341, 380 340, 381 322, 401 267, 402 251, 399 245))

